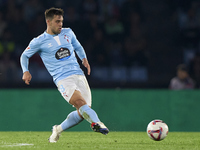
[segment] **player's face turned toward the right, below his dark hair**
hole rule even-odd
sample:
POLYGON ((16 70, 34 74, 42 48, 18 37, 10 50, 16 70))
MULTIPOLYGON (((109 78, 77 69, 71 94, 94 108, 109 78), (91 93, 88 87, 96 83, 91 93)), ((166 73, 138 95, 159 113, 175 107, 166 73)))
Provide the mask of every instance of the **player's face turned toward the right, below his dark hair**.
POLYGON ((54 18, 49 22, 50 30, 53 34, 59 34, 63 26, 63 16, 54 15, 54 18))

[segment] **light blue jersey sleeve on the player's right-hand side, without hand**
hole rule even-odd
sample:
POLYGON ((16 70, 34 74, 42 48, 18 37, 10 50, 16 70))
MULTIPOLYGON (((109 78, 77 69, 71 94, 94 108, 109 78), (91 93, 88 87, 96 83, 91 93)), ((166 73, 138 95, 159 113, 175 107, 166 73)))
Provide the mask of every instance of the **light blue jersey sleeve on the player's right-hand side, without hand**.
POLYGON ((77 40, 76 35, 74 32, 71 30, 72 34, 72 45, 75 49, 75 52, 77 53, 78 57, 82 60, 83 58, 87 58, 85 54, 85 50, 83 49, 82 45, 80 42, 77 40))

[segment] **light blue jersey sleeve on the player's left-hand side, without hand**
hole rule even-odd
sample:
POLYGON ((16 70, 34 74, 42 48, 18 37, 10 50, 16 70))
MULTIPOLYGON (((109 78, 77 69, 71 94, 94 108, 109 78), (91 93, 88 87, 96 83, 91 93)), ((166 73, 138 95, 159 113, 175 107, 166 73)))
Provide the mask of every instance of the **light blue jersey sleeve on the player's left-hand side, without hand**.
POLYGON ((29 58, 33 56, 40 49, 40 44, 37 38, 34 38, 28 45, 28 47, 24 50, 20 57, 20 64, 22 67, 23 73, 28 70, 29 58))

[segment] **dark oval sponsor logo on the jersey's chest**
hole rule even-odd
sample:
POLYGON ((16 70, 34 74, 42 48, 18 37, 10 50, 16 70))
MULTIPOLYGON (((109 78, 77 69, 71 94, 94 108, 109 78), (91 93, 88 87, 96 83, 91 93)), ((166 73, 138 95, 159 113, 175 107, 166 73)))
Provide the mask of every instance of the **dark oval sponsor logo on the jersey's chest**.
POLYGON ((58 60, 66 60, 70 57, 70 51, 68 48, 61 47, 55 54, 56 59, 58 60))

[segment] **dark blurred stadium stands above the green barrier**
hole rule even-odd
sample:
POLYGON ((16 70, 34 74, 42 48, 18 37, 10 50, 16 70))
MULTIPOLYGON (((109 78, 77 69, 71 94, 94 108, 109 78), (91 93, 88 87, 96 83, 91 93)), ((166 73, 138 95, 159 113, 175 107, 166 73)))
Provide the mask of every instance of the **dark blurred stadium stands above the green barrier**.
MULTIPOLYGON (((92 67, 91 88, 168 88, 176 66, 200 83, 198 0, 0 0, 0 88, 23 88, 19 57, 46 29, 44 11, 64 9, 92 67)), ((32 88, 55 88, 38 55, 32 88)))

